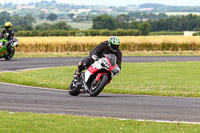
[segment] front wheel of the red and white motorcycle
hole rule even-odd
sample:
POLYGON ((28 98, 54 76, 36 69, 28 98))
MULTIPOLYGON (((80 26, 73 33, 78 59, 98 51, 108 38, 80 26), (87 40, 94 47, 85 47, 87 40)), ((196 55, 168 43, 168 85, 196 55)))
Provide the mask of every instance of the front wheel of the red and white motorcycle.
POLYGON ((96 78, 91 83, 90 96, 95 97, 103 90, 108 83, 108 75, 103 74, 99 81, 96 78))

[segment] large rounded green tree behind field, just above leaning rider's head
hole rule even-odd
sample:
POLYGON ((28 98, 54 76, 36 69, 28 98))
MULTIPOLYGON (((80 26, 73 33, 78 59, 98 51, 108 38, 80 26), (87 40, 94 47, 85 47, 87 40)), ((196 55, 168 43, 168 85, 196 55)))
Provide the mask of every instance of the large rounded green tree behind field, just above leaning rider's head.
POLYGON ((114 30, 116 29, 116 22, 109 15, 100 15, 96 16, 93 20, 93 29, 108 29, 114 30))

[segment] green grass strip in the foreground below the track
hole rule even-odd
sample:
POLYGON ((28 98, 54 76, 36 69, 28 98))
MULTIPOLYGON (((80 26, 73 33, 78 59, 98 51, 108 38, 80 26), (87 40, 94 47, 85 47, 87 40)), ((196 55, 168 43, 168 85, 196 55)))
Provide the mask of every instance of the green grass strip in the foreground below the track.
POLYGON ((199 124, 0 112, 2 133, 198 133, 199 124))

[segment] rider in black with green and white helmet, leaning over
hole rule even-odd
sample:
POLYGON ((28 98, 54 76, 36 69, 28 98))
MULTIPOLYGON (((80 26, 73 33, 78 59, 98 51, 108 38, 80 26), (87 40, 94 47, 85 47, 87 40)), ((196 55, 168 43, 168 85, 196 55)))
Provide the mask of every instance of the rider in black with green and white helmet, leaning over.
POLYGON ((95 61, 98 61, 100 58, 104 57, 104 54, 114 54, 117 57, 116 63, 121 69, 122 53, 119 49, 119 46, 120 40, 117 36, 111 36, 108 41, 101 42, 90 52, 88 57, 79 62, 78 70, 76 70, 73 77, 77 78, 80 76, 81 71, 88 68, 95 61))

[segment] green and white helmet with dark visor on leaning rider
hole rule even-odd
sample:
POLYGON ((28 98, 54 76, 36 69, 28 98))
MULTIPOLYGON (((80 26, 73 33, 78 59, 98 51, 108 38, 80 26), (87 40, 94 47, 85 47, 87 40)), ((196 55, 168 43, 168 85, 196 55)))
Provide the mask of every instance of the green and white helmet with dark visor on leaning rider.
POLYGON ((110 47, 110 50, 113 52, 117 52, 119 49, 120 40, 117 36, 111 36, 108 40, 108 46, 110 47))

